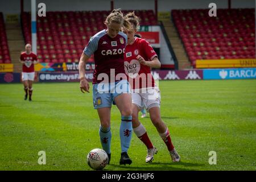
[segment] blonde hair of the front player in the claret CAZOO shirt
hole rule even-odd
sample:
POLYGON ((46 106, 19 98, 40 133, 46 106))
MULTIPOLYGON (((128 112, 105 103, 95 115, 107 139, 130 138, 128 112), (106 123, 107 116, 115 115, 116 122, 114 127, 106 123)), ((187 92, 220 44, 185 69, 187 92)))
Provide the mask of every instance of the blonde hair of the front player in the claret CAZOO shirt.
POLYGON ((129 29, 131 27, 130 22, 128 22, 124 17, 121 9, 116 9, 111 11, 111 13, 106 18, 105 22, 106 26, 110 23, 118 23, 121 24, 122 27, 129 29))

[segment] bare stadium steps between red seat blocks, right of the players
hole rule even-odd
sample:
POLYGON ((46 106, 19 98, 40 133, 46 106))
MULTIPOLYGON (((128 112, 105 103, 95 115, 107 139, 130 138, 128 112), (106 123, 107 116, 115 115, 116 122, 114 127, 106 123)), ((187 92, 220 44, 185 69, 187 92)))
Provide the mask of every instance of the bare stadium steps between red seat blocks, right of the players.
POLYGON ((189 69, 191 68, 191 63, 188 60, 187 53, 185 53, 185 49, 179 35, 177 34, 176 28, 174 24, 170 21, 163 21, 164 28, 166 28, 167 36, 172 44, 172 48, 174 49, 175 55, 177 57, 177 61, 179 64, 179 69, 189 69))

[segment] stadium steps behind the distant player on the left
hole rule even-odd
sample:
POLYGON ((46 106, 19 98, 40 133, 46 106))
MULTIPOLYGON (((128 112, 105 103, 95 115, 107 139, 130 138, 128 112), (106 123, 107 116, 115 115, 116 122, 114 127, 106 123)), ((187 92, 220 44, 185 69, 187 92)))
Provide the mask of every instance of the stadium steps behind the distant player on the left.
POLYGON ((6 35, 10 50, 11 63, 14 64, 14 72, 22 72, 22 66, 19 63, 19 56, 20 52, 24 50, 24 39, 20 23, 6 22, 6 35))

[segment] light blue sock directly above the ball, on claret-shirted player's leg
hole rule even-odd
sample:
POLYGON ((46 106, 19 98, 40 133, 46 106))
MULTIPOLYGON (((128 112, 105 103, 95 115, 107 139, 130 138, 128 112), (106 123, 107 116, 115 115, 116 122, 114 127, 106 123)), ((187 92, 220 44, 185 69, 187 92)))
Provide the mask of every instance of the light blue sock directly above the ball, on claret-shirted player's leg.
POLYGON ((101 146, 103 148, 103 150, 105 150, 105 152, 107 154, 110 154, 110 144, 111 144, 111 138, 112 138, 112 133, 110 130, 110 127, 107 127, 106 129, 104 129, 102 126, 100 126, 100 139, 101 139, 101 146))

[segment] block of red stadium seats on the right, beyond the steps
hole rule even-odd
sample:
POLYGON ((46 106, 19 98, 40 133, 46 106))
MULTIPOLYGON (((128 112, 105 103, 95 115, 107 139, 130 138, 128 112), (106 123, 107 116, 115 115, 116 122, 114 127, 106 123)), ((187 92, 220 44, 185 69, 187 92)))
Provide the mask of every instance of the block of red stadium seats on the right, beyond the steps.
POLYGON ((172 20, 195 67, 197 59, 255 58, 254 9, 172 10, 172 20))

